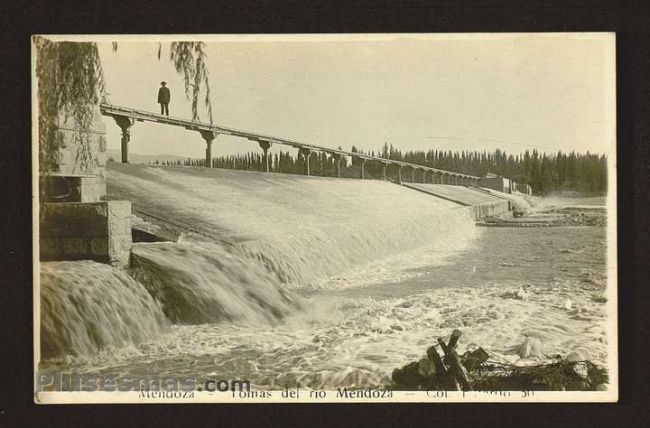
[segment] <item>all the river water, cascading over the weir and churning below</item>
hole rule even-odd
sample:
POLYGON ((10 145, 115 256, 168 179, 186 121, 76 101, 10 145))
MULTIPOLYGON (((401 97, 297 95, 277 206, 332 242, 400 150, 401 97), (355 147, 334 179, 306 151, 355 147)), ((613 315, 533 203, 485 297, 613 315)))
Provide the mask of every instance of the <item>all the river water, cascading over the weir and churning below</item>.
MULTIPOLYGON (((571 353, 607 363, 603 227, 479 228, 444 201, 354 180, 348 189, 305 180, 302 202, 265 199, 254 214, 242 211, 253 221, 227 210, 219 217, 204 195, 192 199, 191 189, 205 188, 196 180, 208 178, 150 170, 113 171, 120 195, 146 200, 170 179, 180 193, 165 197, 188 210, 175 215, 247 239, 136 243, 128 272, 43 263, 42 368, 246 379, 255 388, 379 387, 454 328, 461 352, 481 346, 517 364, 571 353), (541 349, 522 358, 530 338, 541 349)), ((289 184, 278 180, 276 188, 289 184)), ((241 183, 210 186, 230 192, 215 205, 241 211, 241 183)), ((255 197, 248 189, 242 203, 255 197)))

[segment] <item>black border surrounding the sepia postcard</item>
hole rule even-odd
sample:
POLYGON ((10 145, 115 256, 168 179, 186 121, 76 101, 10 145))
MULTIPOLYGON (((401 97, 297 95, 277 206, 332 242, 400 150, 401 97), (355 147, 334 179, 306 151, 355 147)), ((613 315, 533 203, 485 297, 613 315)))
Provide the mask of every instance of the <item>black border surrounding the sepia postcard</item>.
POLYGON ((650 12, 642 1, 15 1, 0 6, 0 425, 643 426, 648 424, 650 12), (616 404, 33 403, 32 34, 616 32, 620 401, 616 404), (636 226, 636 227, 635 227, 636 226))

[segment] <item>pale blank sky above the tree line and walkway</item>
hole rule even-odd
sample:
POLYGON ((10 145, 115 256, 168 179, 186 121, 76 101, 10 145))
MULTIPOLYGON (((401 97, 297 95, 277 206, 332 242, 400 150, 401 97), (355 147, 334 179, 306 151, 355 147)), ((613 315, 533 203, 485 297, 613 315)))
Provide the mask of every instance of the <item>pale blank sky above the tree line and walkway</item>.
MULTIPOLYGON (((190 119, 169 61, 174 39, 188 36, 105 37, 99 49, 110 102, 159 112, 165 80, 170 114, 190 119), (119 42, 117 52, 109 40, 119 42)), ((384 142, 402 150, 498 147, 513 154, 614 150, 613 34, 201 39, 215 124, 345 150, 384 142)), ((119 149, 119 128, 105 122, 108 147, 119 149)), ((258 150, 227 136, 216 143, 215 156, 258 150)), ((132 129, 133 153, 202 157, 204 149, 197 132, 140 122, 132 129)))

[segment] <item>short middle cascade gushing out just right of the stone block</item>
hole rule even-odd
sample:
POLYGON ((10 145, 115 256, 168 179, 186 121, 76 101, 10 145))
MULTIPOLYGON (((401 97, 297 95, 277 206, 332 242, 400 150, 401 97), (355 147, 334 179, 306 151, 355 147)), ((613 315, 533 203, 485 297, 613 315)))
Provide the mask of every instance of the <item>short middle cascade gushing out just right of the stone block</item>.
POLYGON ((263 267, 210 242, 135 244, 131 274, 175 324, 274 324, 300 307, 263 267))

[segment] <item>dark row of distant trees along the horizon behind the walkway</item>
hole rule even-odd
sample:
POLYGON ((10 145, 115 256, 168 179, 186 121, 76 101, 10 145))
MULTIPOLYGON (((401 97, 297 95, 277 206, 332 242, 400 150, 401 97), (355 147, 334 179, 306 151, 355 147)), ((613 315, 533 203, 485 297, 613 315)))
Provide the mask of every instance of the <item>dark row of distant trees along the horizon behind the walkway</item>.
MULTIPOLYGON (((340 147, 339 147, 340 149, 340 147)), ((536 149, 513 155, 496 149, 494 151, 443 151, 410 150, 402 152, 392 144, 384 144, 378 151, 364 152, 352 146, 354 153, 377 156, 384 159, 410 162, 451 172, 484 177, 488 172, 511 178, 517 183, 529 184, 533 193, 548 194, 556 191, 578 191, 582 193, 603 194, 607 191, 607 157, 593 153, 540 153, 536 149)), ((358 178, 361 175, 361 160, 341 159, 341 177, 358 178)), ((203 159, 184 159, 163 162, 167 165, 204 166, 203 159)), ((246 171, 265 171, 266 163, 261 152, 219 156, 212 159, 214 168, 227 168, 246 171)), ((364 176, 368 179, 395 180, 396 165, 388 165, 384 170, 381 162, 366 161, 364 176), (384 176, 384 172, 386 175, 384 176)), ((285 174, 305 174, 306 160, 289 151, 269 154, 271 172, 285 174)), ((322 152, 314 152, 309 158, 310 174, 315 176, 336 176, 336 160, 322 152)), ((411 181, 408 168, 402 169, 403 181, 411 181)), ((421 181, 419 172, 416 181, 421 181)), ((427 181, 431 181, 431 174, 427 181)))

